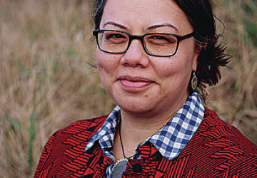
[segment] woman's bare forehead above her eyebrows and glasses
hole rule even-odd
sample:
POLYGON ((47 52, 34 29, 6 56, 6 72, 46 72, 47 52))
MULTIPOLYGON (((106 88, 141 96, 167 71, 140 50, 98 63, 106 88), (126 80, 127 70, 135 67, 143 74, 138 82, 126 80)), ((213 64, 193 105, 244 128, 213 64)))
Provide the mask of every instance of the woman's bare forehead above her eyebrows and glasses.
MULTIPOLYGON (((100 28, 110 21, 129 29, 145 30, 163 23, 175 26, 181 33, 192 29, 186 14, 170 0, 108 0, 100 28)), ((174 29, 171 32, 175 32, 174 29)))

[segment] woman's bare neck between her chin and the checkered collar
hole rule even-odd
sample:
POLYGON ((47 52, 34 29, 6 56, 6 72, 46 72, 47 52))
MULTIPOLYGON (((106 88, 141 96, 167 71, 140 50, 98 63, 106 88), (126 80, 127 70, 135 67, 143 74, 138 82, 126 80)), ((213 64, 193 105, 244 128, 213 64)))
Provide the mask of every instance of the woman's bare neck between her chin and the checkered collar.
POLYGON ((186 98, 181 103, 176 103, 173 108, 168 110, 161 108, 163 110, 147 112, 147 114, 135 114, 121 109, 121 127, 118 128, 114 137, 113 151, 116 161, 124 158, 119 137, 122 139, 126 157, 134 155, 136 146, 166 125, 186 102, 186 98), (119 129, 121 129, 121 135, 119 135, 119 129))

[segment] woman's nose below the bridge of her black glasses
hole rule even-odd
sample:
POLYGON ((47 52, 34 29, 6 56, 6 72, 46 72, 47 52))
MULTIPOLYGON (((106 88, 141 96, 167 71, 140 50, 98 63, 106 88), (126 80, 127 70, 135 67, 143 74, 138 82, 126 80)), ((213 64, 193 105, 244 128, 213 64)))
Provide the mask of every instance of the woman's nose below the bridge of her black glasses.
POLYGON ((140 40, 134 39, 131 41, 129 49, 121 58, 121 64, 131 67, 141 66, 142 68, 149 65, 148 55, 143 50, 143 44, 140 40))

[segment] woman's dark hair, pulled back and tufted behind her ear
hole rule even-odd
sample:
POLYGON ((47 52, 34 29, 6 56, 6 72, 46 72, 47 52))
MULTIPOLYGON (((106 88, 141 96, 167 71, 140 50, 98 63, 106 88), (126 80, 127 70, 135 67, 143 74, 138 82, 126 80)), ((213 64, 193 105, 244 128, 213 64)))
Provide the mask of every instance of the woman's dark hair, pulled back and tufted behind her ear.
MULTIPOLYGON (((94 0, 94 23, 98 29, 107 0, 94 0)), ((196 35, 196 44, 201 52, 198 57, 196 76, 198 87, 216 85, 221 79, 219 66, 226 66, 231 58, 226 54, 226 46, 218 42, 221 35, 216 34, 216 16, 213 14, 211 0, 174 0, 188 17, 196 35)))

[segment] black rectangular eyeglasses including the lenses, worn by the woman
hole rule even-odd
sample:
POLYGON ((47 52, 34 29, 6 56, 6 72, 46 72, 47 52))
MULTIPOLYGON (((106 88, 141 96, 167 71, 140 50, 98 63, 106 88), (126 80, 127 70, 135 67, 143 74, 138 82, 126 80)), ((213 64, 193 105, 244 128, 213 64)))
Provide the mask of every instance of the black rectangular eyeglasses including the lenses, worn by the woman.
POLYGON ((125 31, 95 30, 97 46, 106 53, 121 54, 128 51, 131 41, 138 39, 143 44, 143 49, 148 55, 158 57, 169 57, 176 54, 180 41, 194 36, 194 32, 185 36, 171 33, 146 33, 136 36, 125 31))

